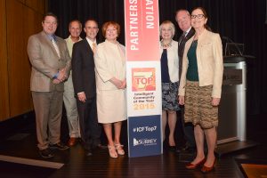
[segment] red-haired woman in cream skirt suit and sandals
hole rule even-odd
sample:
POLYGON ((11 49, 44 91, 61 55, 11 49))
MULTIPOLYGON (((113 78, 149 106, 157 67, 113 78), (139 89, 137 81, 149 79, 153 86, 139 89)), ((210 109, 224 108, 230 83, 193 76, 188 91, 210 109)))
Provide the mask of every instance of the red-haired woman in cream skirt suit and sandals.
POLYGON ((125 46, 117 42, 120 26, 108 21, 102 26, 105 42, 97 45, 94 55, 98 122, 108 139, 109 156, 124 155, 120 144, 122 121, 126 119, 125 46), (112 135, 114 125, 114 141, 112 135))

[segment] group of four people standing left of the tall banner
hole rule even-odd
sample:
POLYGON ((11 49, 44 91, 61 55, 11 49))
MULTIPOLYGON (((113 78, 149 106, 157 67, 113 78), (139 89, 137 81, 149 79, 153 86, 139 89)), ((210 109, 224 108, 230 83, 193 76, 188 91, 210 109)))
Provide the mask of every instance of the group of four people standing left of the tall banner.
POLYGON ((101 44, 96 40, 96 20, 85 21, 85 39, 80 37, 79 20, 69 22, 66 40, 54 35, 58 20, 53 13, 44 15, 42 26, 43 31, 28 38, 30 90, 40 155, 52 158, 54 149, 68 150, 80 137, 86 156, 91 156, 94 149, 105 148, 101 145, 99 123, 108 138, 110 157, 124 155, 120 130, 126 119, 125 47, 117 42, 120 26, 114 21, 106 22, 101 28, 106 40, 101 44), (63 101, 69 145, 61 142, 63 101))

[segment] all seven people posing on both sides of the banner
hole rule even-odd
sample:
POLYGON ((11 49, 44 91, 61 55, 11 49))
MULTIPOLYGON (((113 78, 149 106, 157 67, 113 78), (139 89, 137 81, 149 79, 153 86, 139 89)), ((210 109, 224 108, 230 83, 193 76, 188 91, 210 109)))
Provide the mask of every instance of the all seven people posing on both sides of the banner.
MULTIPOLYGON (((175 20, 183 32, 178 41, 173 39, 173 22, 165 20, 159 27, 163 140, 167 123, 169 147, 176 147, 174 130, 177 120, 181 120, 185 146, 197 149, 196 158, 186 168, 202 166, 201 171, 206 173, 213 170, 215 163, 223 82, 222 42, 206 26, 206 11, 201 7, 191 13, 179 10, 175 20), (180 119, 178 110, 182 111, 180 119)), ((96 20, 85 21, 85 39, 80 37, 79 20, 69 22, 70 36, 66 40, 54 35, 58 20, 53 13, 44 15, 42 26, 42 32, 28 39, 32 64, 30 90, 40 155, 52 158, 53 149, 67 150, 80 137, 86 155, 91 156, 93 149, 102 148, 99 123, 107 136, 109 156, 124 155, 120 133, 126 119, 125 46, 117 42, 119 24, 114 21, 103 24, 105 41, 100 44, 96 40, 99 32, 96 20), (69 146, 60 140, 62 101, 69 123, 69 146)))

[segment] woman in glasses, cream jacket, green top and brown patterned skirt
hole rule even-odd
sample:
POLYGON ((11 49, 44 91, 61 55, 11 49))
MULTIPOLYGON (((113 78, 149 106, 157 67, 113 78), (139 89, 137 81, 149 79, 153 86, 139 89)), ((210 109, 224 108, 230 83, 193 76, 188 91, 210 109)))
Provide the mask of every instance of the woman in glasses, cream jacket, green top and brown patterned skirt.
POLYGON ((208 30, 206 11, 198 7, 191 12, 195 36, 185 44, 179 103, 184 104, 184 120, 194 125, 196 158, 186 166, 208 173, 214 169, 218 105, 223 83, 223 47, 219 34, 208 30), (204 153, 204 135, 207 155, 204 153))

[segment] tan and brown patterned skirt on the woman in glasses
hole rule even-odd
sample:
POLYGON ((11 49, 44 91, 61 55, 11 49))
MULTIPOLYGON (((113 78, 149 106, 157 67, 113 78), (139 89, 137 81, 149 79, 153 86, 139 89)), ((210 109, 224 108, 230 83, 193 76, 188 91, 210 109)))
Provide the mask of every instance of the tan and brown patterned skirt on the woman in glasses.
POLYGON ((218 107, 211 104, 213 85, 199 86, 198 82, 186 81, 184 121, 200 125, 203 129, 218 126, 218 107))

